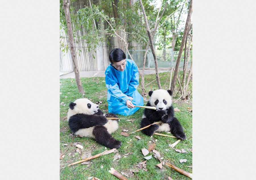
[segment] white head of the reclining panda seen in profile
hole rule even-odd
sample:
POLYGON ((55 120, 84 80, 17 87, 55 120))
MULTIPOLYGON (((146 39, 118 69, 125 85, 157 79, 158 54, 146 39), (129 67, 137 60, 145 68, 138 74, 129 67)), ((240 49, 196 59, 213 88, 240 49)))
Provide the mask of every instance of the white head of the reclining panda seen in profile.
POLYGON ((98 109, 99 106, 97 104, 94 104, 86 98, 77 99, 74 102, 70 103, 67 118, 69 119, 71 116, 81 113, 92 115, 97 113, 98 109))

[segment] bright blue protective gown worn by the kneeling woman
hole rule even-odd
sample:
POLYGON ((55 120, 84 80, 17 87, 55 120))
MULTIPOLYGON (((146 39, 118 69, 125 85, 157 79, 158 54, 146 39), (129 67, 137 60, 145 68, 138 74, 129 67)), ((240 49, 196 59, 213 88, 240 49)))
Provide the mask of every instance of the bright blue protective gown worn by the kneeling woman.
POLYGON ((131 59, 126 59, 124 71, 116 70, 111 64, 105 71, 106 87, 108 89, 108 112, 113 114, 131 115, 139 107, 129 108, 126 101, 131 96, 133 105, 144 105, 143 97, 137 91, 139 86, 139 71, 131 59))

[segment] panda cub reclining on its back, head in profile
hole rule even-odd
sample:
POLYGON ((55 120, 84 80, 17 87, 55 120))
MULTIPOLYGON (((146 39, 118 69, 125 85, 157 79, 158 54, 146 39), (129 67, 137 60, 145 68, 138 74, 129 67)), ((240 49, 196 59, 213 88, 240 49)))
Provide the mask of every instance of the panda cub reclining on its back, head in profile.
POLYGON ((111 135, 118 128, 118 119, 106 117, 117 116, 112 113, 104 116, 99 106, 86 98, 77 99, 69 104, 67 119, 69 128, 75 135, 94 138, 107 148, 118 149, 122 143, 111 135))

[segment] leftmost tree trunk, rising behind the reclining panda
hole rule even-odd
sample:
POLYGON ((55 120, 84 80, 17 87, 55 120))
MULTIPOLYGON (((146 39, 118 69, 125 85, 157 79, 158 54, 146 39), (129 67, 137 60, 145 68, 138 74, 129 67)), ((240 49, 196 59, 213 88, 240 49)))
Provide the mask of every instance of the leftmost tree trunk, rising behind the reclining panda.
POLYGON ((67 3, 67 0, 63 0, 63 5, 64 5, 64 11, 65 11, 65 16, 66 16, 66 21, 67 21, 70 52, 71 52, 73 66, 74 66, 77 88, 78 88, 79 93, 84 94, 84 89, 82 87, 79 69, 78 69, 78 65, 77 65, 78 61, 77 61, 77 56, 76 56, 76 51, 75 51, 75 46, 74 46, 74 38, 73 38, 72 23, 71 23, 70 11, 69 11, 69 3, 67 3))

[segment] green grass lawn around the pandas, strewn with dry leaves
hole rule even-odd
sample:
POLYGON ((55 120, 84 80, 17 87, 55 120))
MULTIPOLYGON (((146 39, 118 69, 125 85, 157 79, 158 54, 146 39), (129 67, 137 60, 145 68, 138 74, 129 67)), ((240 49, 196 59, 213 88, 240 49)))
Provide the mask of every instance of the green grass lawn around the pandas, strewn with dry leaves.
MULTIPOLYGON (((166 73, 160 73, 159 76, 165 75, 166 73)), ((169 73, 170 74, 170 73, 169 73)), ((146 75, 145 76, 145 84, 148 84, 152 80, 155 79, 155 75, 146 75)), ((67 150, 68 146, 64 146, 65 142, 71 143, 72 137, 69 136, 71 131, 69 130, 69 126, 67 123, 67 110, 69 108, 69 103, 73 102, 78 98, 88 98, 92 102, 96 103, 102 101, 100 104, 100 109, 107 113, 108 111, 108 102, 107 102, 107 89, 105 84, 104 77, 94 77, 94 78, 81 78, 82 86, 85 90, 85 95, 82 96, 78 93, 76 81, 74 78, 67 78, 67 79, 60 79, 60 154, 62 154, 65 150, 67 150), (64 103, 64 104, 63 104, 64 103)), ((163 76, 161 79, 161 85, 163 89, 169 88, 170 83, 170 76, 168 74, 163 76)), ((139 85, 141 87, 141 85, 139 85)), ((179 87, 178 85, 176 87, 179 87)), ((189 84, 189 90, 191 90, 192 84, 189 84)), ((152 84, 146 87, 146 92, 148 93, 150 90, 156 90, 158 86, 156 81, 152 82, 152 84)), ((138 88, 138 91, 141 93, 141 89, 138 88)), ((177 95, 177 90, 174 93, 173 102, 179 98, 180 94, 177 95), (175 99, 176 98, 176 99, 175 99)), ((148 96, 146 97, 148 100, 148 96)), ((144 103, 146 104, 146 100, 144 103)), ((97 103, 98 104, 98 103, 97 103)), ((187 166, 192 166, 192 152, 189 149, 192 149, 192 113, 188 111, 186 107, 190 107, 192 109, 191 100, 190 103, 182 102, 178 100, 175 104, 173 104, 174 108, 178 107, 180 109, 179 112, 175 112, 175 116, 180 121, 181 125, 183 126, 184 132, 187 136, 186 140, 180 141, 175 148, 177 149, 185 149, 188 153, 179 153, 176 152, 174 149, 170 148, 168 144, 174 143, 177 139, 163 137, 163 136, 156 136, 149 137, 144 135, 143 133, 136 132, 128 137, 122 136, 120 133, 123 129, 129 130, 127 133, 131 133, 140 128, 141 117, 143 114, 143 108, 139 109, 136 113, 130 116, 122 116, 118 115, 118 117, 125 117, 126 119, 135 119, 133 123, 126 121, 126 119, 121 119, 119 121, 119 129, 112 133, 112 136, 120 140, 122 142, 122 146, 118 149, 117 153, 121 156, 127 154, 129 152, 133 152, 133 154, 129 154, 126 157, 122 157, 119 160, 114 159, 114 153, 101 156, 99 158, 95 158, 90 160, 90 164, 81 165, 76 164, 70 167, 61 168, 67 164, 76 162, 81 160, 82 154, 85 154, 87 151, 90 151, 92 156, 98 153, 105 151, 105 147, 98 144, 94 139, 87 138, 87 137, 74 137, 72 144, 78 142, 84 148, 81 154, 75 153, 75 149, 70 146, 68 150, 65 152, 65 157, 60 160, 60 179, 88 179, 88 177, 97 177, 101 180, 105 179, 117 179, 115 176, 110 174, 108 171, 111 167, 115 168, 119 173, 124 172, 129 176, 132 175, 130 169, 138 169, 139 172, 135 172, 133 177, 126 177, 127 179, 168 179, 168 177, 172 177, 172 179, 190 179, 177 171, 171 169, 170 167, 163 166, 162 169, 156 166, 159 164, 159 160, 152 158, 147 160, 146 162, 146 169, 147 171, 143 171, 143 169, 139 169, 135 167, 140 162, 145 161, 144 155, 141 152, 142 148, 148 148, 148 145, 152 144, 152 140, 157 141, 155 142, 156 147, 155 149, 160 152, 161 157, 166 162, 170 162, 171 164, 192 173, 192 168, 187 166), (138 140, 134 136, 139 135, 141 140, 138 140), (151 143, 149 143, 151 141, 151 143), (95 146, 92 146, 95 145, 95 146), (166 151, 169 150, 169 151, 166 151), (69 154, 71 156, 69 156, 69 154), (74 157, 73 157, 74 156, 74 157), (187 162, 180 163, 180 159, 187 159, 187 162)), ((163 133, 167 134, 167 133, 163 133)), ((168 134, 171 135, 171 134, 168 134)), ((109 150, 107 148, 107 150, 109 150)), ((149 152, 149 155, 153 155, 152 152, 149 152)))

